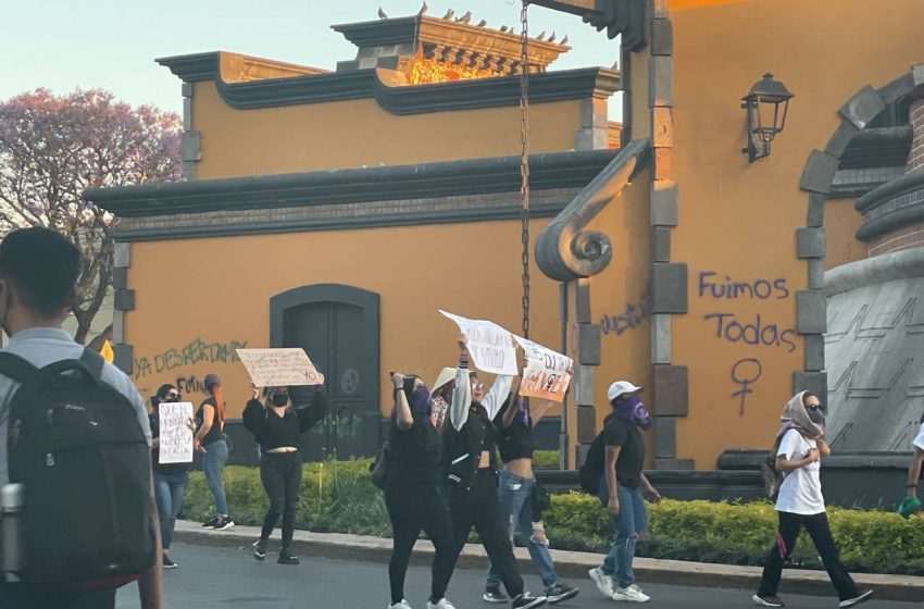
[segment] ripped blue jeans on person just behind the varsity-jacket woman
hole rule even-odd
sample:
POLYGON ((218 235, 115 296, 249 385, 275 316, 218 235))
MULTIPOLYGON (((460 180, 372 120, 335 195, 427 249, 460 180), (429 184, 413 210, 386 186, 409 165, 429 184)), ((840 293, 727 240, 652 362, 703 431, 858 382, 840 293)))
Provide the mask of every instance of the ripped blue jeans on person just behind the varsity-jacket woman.
MULTIPOLYGON (((535 480, 502 471, 500 473, 500 481, 498 482, 498 500, 500 501, 501 513, 508 517, 510 538, 513 539, 513 531, 519 525, 520 534, 526 539, 526 547, 529 549, 529 557, 533 559, 533 564, 536 566, 536 570, 539 572, 542 585, 548 589, 555 585, 559 579, 555 575, 555 568, 552 564, 552 556, 549 554, 549 548, 544 544, 537 544, 533 540, 534 486, 536 486, 535 480)), ((488 560, 488 581, 485 583, 485 587, 500 587, 500 573, 497 572, 490 560, 488 560)))

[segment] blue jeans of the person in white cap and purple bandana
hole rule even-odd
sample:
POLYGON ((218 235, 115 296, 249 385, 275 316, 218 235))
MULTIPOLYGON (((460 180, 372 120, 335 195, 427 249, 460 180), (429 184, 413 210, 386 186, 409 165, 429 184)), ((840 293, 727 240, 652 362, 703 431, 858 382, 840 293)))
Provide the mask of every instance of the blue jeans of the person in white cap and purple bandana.
MULTIPOLYGON (((610 502, 607 481, 600 481, 600 490, 597 494, 603 506, 610 502)), ((615 538, 610 547, 610 552, 603 559, 603 573, 612 576, 616 584, 628 587, 635 583, 635 573, 632 572, 632 560, 635 558, 635 546, 638 544, 638 535, 648 526, 645 515, 645 500, 641 497, 641 488, 626 488, 622 484, 616 485, 616 498, 620 500, 620 514, 611 515, 615 538)))

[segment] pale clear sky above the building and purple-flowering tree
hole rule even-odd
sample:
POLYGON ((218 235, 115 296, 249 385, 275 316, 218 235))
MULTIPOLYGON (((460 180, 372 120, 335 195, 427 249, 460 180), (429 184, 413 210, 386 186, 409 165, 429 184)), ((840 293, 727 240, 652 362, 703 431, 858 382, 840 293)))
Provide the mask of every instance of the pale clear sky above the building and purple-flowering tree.
MULTIPOLYGON (((520 30, 519 0, 427 0, 428 15, 472 11, 473 23, 520 30)), ((421 0, 0 0, 0 100, 39 87, 102 88, 133 105, 182 112, 179 79, 155 58, 234 51, 334 70, 355 47, 334 24, 407 16, 421 0)), ((529 32, 569 36, 550 69, 612 66, 619 45, 579 17, 529 8, 529 32)), ((611 100, 610 117, 619 120, 611 100)))

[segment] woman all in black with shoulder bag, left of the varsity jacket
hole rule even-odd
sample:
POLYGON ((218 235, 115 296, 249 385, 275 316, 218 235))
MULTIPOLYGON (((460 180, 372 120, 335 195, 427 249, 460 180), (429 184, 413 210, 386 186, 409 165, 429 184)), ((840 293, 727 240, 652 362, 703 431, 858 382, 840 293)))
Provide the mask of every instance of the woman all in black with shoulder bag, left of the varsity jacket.
POLYGON ((385 506, 391 520, 394 545, 388 563, 389 609, 410 609, 404 576, 421 531, 436 548, 427 607, 453 609, 446 598, 452 576, 452 522, 440 483, 442 436, 433 417, 430 394, 416 376, 391 373, 395 409, 388 430, 388 470, 385 506))

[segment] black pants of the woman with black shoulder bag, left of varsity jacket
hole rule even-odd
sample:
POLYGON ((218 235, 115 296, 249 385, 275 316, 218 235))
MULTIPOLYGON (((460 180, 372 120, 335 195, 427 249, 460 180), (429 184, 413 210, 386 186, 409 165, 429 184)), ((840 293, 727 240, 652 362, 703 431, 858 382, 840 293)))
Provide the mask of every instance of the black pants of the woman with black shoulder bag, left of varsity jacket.
POLYGON ((427 534, 436 548, 430 584, 430 600, 436 602, 446 596, 446 587, 455 567, 452 521, 445 492, 438 485, 389 485, 385 490, 385 506, 391 519, 394 538, 391 560, 388 562, 391 602, 400 602, 404 598, 404 576, 421 531, 427 534))

